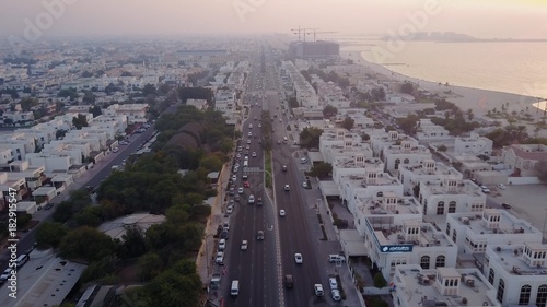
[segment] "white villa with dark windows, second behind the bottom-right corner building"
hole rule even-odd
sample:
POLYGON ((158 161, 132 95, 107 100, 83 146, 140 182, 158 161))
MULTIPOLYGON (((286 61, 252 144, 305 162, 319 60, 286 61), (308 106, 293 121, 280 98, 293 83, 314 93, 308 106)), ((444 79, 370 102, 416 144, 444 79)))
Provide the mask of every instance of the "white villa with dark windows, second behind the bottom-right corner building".
POLYGON ((486 196, 472 180, 443 177, 420 182, 419 202, 423 215, 444 215, 456 212, 477 212, 485 209, 486 196))

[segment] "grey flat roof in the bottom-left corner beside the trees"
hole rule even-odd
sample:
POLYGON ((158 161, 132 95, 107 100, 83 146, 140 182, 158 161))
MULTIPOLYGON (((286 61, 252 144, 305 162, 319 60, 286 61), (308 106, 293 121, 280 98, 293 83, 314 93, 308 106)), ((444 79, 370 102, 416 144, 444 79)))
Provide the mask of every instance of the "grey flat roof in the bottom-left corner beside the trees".
POLYGON ((18 297, 0 288, 0 306, 34 307, 60 305, 88 265, 56 257, 51 250, 31 252, 31 260, 18 271, 18 297))

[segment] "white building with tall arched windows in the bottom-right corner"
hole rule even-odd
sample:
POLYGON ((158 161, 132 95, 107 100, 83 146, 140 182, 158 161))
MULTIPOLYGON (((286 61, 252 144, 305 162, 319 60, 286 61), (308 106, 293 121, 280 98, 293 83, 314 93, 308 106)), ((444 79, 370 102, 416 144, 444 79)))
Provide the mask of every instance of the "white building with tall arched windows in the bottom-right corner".
POLYGON ((547 306, 547 245, 488 246, 484 274, 502 306, 547 306))

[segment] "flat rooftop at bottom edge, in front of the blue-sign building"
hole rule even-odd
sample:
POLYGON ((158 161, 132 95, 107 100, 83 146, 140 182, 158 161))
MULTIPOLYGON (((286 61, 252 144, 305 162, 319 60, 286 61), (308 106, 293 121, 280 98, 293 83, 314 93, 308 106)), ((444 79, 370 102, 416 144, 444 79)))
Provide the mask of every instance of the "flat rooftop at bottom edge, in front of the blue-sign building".
POLYGON ((397 265, 394 283, 397 287, 397 296, 407 303, 405 306, 501 306, 494 299, 493 287, 485 281, 476 268, 422 270, 418 264, 397 265), (434 285, 438 273, 444 276, 459 276, 459 281, 463 279, 473 280, 473 285, 461 282, 457 295, 444 295, 434 285), (429 285, 419 282, 423 276, 431 281, 429 285), (464 297, 467 299, 466 304, 462 303, 464 297))

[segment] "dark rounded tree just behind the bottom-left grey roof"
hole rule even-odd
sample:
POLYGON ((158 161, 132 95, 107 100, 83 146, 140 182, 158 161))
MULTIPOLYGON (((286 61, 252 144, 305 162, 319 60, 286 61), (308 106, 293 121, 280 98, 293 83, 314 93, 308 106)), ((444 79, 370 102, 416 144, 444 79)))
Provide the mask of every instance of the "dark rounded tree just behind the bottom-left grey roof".
POLYGON ((108 235, 83 226, 67 234, 59 245, 59 256, 66 259, 83 259, 89 262, 114 255, 115 245, 108 235))

